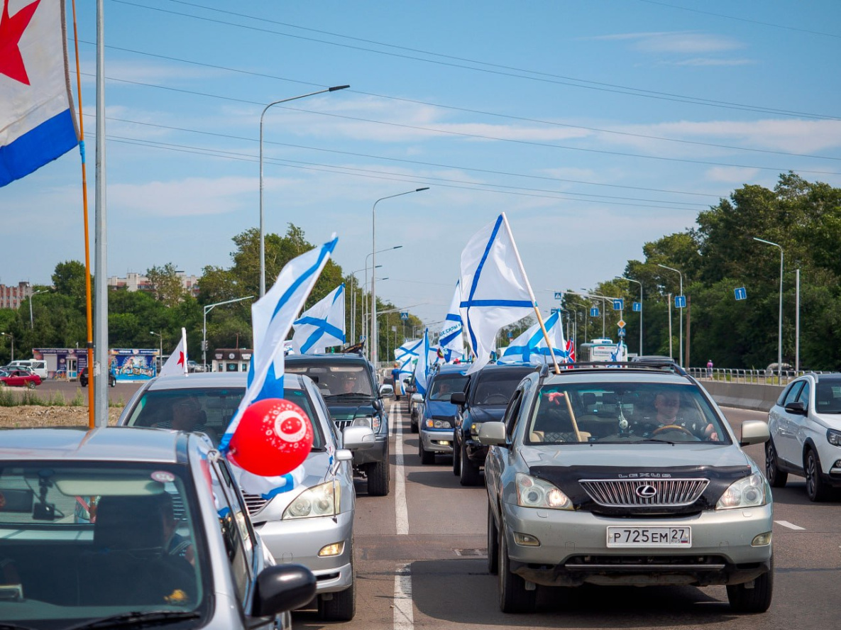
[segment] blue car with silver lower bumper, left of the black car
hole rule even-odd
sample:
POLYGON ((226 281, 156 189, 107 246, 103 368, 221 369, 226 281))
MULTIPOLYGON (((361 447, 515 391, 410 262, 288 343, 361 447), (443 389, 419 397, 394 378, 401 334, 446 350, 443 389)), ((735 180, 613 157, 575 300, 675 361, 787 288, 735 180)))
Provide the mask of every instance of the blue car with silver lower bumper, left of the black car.
POLYGON ((421 463, 435 463, 436 454, 452 453, 452 427, 458 408, 450 396, 463 392, 468 384, 466 365, 442 365, 426 384, 426 395, 418 405, 420 436, 418 456, 421 463))

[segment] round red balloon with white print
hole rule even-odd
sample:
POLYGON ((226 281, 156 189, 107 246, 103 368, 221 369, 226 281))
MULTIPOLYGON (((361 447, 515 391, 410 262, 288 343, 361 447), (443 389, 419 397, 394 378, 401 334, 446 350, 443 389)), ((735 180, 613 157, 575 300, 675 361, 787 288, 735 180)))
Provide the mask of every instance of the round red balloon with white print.
POLYGON ((249 473, 276 477, 298 468, 313 446, 306 412, 280 398, 258 400, 242 413, 229 453, 249 473))

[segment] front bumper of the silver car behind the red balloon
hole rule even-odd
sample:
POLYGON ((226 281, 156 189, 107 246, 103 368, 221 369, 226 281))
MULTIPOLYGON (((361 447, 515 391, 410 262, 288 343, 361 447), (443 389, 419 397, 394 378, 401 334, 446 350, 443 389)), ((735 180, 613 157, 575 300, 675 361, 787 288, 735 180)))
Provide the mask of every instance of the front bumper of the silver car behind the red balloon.
POLYGON ((345 590, 352 585, 352 511, 336 516, 336 521, 331 516, 267 521, 255 529, 278 564, 303 564, 315 574, 316 592, 345 590), (341 553, 320 558, 319 550, 333 543, 344 543, 341 553))

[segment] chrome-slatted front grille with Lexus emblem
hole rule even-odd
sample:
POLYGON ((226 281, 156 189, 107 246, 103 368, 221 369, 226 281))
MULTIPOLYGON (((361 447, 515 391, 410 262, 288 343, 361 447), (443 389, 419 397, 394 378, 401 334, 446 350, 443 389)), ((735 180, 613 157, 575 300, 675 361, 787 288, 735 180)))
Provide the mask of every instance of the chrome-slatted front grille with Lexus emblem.
POLYGON ((590 499, 609 507, 690 506, 709 479, 581 479, 590 499))

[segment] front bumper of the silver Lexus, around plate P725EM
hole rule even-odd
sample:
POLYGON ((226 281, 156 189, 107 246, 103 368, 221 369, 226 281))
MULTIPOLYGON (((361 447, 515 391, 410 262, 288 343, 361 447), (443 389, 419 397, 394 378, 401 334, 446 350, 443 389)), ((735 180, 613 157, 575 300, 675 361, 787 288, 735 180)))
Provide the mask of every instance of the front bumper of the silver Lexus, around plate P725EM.
POLYGON ((743 584, 770 570, 771 545, 751 546, 771 531, 772 508, 706 511, 673 519, 616 519, 584 511, 503 504, 513 573, 547 586, 743 584), (608 548, 607 527, 691 527, 690 548, 608 548), (516 544, 530 534, 539 547, 516 544))

